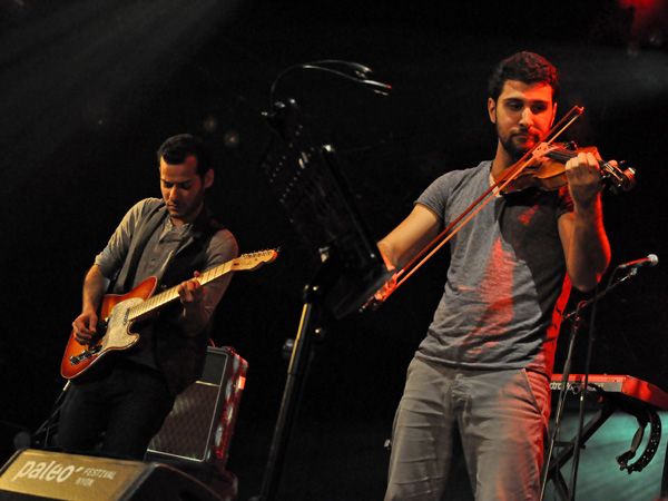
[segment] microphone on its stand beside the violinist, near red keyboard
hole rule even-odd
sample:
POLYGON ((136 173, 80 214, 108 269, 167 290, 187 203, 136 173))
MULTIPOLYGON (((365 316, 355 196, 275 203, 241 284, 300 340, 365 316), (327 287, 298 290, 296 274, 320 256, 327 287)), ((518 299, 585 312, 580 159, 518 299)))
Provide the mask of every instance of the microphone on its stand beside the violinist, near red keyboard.
MULTIPOLYGON (((548 477, 549 477, 549 471, 550 471, 550 462, 552 460, 552 453, 554 450, 557 435, 559 434, 559 429, 561 426, 561 419, 563 416, 563 403, 566 401, 566 393, 568 390, 568 380, 570 376, 570 371, 571 371, 571 365, 572 365, 572 355, 573 355, 576 338, 577 338, 578 332, 580 330, 580 326, 582 325, 582 317, 580 316, 580 312, 582 312, 583 310, 586 310, 589 306, 592 306, 592 314, 591 314, 591 318, 590 318, 590 330, 589 330, 589 343, 587 346, 587 362, 586 362, 586 371, 584 371, 584 381, 582 383, 582 389, 580 391, 580 413, 579 413, 579 419, 578 419, 578 432, 577 432, 576 439, 574 439, 576 444, 574 444, 574 449, 573 449, 571 484, 569 488, 569 492, 568 492, 568 501, 576 500, 576 482, 577 482, 578 466, 579 466, 579 461, 580 461, 580 448, 581 448, 580 443, 581 443, 581 439, 582 439, 582 428, 583 428, 583 419, 584 419, 584 399, 587 396, 587 386, 589 384, 589 363, 591 361, 591 351, 592 351, 593 337, 595 337, 593 336, 593 320, 596 316, 596 305, 599 299, 603 298, 615 287, 617 287, 621 283, 626 282, 627 279, 629 279, 638 274, 638 268, 636 268, 636 267, 625 268, 623 271, 626 273, 623 275, 619 276, 616 282, 612 282, 617 275, 617 272, 620 269, 620 266, 618 266, 615 269, 615 272, 612 272, 612 275, 610 275, 610 279, 608 281, 608 285, 606 286, 606 288, 603 291, 597 292, 589 299, 580 302, 578 304, 578 306, 576 307, 576 310, 573 310, 570 313, 562 316, 563 321, 571 322, 571 331, 570 331, 567 357, 566 357, 566 362, 563 364, 563 374, 561 377, 561 387, 559 391, 557 413, 554 414, 554 426, 552 429, 552 433, 550 434, 549 451, 547 454, 546 463, 543 464, 543 473, 542 473, 542 479, 541 479, 542 487, 541 487, 541 492, 540 492, 541 501, 543 500, 544 494, 546 494, 546 487, 548 483, 548 477)), ((561 483, 557 483, 557 482, 556 482, 556 485, 558 488, 563 487, 561 483)))

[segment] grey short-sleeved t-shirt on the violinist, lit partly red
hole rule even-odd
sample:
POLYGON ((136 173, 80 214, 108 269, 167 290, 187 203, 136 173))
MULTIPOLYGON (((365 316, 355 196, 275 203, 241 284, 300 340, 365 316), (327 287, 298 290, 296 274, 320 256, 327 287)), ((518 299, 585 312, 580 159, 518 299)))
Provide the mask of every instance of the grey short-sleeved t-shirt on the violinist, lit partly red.
MULTIPOLYGON (((490 187, 491 161, 438 178, 416 200, 444 227, 490 187)), ((567 188, 495 196, 450 240, 443 297, 416 356, 454 367, 551 374, 570 293, 557 220, 567 188), (557 306, 557 308, 556 308, 557 306)))

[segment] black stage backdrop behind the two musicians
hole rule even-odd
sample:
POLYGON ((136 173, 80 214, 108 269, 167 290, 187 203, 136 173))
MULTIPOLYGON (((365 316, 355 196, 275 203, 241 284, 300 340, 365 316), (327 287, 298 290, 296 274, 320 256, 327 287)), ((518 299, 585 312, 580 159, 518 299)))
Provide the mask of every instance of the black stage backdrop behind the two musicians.
MULTIPOLYGON (((243 498, 257 493, 285 383, 282 345, 297 331, 302 289, 315 272, 315 249, 302 245, 257 167, 271 135, 262 112, 271 109, 272 82, 293 65, 355 61, 393 87, 383 97, 297 70, 275 96, 296 99, 342 154, 381 238, 439 174, 493 156, 485 109, 492 66, 518 50, 543 53, 562 73, 560 116, 573 105, 586 109, 571 138, 638 169, 636 190, 606 194, 613 265, 650 253, 664 259, 665 6, 465 3, 0 0, 2 460, 16 432, 35 431, 62 390, 60 358, 95 254, 135 202, 159 196, 154 151, 191 131, 215 146, 210 205, 242 252, 282 249, 271 266, 235 276, 214 332, 217 345, 236 347, 249 363, 229 469, 243 498)), ((382 308, 328 330, 286 461, 286 499, 382 497, 383 442, 445 264, 442 252, 382 308)), ((593 373, 668 390, 666 279, 659 263, 598 304, 593 373)), ((574 372, 584 369, 586 341, 574 372)), ((644 483, 656 485, 654 495, 652 474, 644 483)), ((606 483, 626 478, 613 472, 617 480, 606 483)))

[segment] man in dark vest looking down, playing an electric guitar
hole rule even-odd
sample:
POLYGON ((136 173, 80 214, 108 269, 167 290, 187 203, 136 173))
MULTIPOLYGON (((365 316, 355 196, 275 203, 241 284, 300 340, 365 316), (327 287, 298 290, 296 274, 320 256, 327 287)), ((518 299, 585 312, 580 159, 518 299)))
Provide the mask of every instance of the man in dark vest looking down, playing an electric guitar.
POLYGON ((58 431, 59 445, 69 452, 144 458, 176 395, 202 374, 213 313, 232 277, 227 273, 206 287, 195 279, 238 253, 232 233, 205 205, 214 170, 203 141, 174 136, 157 157, 163 199, 135 205, 96 257, 71 337, 81 351, 91 346, 105 294, 128 294, 151 276, 159 289, 175 287, 178 301, 135 325, 139 338, 130 347, 71 380, 58 431))

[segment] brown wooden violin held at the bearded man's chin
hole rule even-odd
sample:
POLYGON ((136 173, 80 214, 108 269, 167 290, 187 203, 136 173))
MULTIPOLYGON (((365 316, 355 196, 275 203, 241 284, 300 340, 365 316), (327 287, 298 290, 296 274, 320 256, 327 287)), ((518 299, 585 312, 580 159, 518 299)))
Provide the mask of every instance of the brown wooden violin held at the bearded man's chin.
MULTIPOLYGON (((531 150, 531 157, 524 160, 524 166, 511 167, 509 170, 520 174, 514 178, 508 179, 505 173, 502 173, 494 179, 501 186, 503 193, 515 193, 530 187, 537 187, 544 191, 559 189, 568 184, 566 177, 566 164, 579 153, 591 153, 596 155, 598 149, 595 146, 577 148, 573 143, 562 145, 550 145, 548 143, 539 144, 531 150)), ((522 160, 520 160, 521 163, 522 160)), ((601 169, 601 179, 610 186, 612 193, 629 191, 636 186, 636 169, 632 167, 621 169, 608 161, 598 160, 601 169)))

